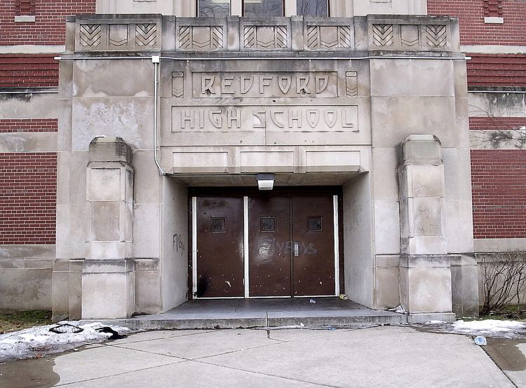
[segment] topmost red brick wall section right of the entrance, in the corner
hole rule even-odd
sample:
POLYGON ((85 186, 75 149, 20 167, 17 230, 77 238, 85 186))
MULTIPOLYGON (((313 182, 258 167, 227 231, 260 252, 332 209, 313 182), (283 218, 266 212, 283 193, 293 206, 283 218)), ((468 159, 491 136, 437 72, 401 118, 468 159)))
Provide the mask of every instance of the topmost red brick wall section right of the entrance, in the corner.
POLYGON ((503 0, 504 24, 484 22, 484 0, 428 0, 429 15, 457 16, 462 44, 523 46, 526 42, 526 1, 503 0))

